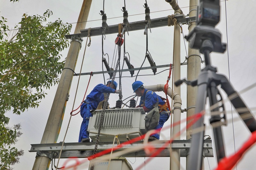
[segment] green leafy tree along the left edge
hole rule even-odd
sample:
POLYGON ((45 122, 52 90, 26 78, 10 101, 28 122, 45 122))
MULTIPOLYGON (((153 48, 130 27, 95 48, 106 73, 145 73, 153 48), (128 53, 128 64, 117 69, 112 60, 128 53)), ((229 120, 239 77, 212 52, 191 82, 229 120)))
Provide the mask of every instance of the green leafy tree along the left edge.
MULTIPOLYGON (((17 137, 17 127, 13 130, 6 128, 9 122, 9 118, 4 115, 6 112, 12 110, 14 114, 20 115, 30 107, 38 107, 46 94, 43 89, 59 82, 58 75, 64 66, 63 59, 60 60, 60 52, 69 46, 64 35, 69 34, 72 26, 62 24, 60 18, 45 24, 51 15, 50 10, 43 16, 23 14, 14 30, 6 25, 6 18, 0 18, 1 138, 7 133, 13 141, 17 137)), ((6 145, 11 144, 6 142, 6 145)), ((10 155, 18 154, 18 150, 9 151, 10 155)), ((1 148, 0 154, 3 152, 1 148)), ((0 167, 5 165, 5 158, 1 155, 0 167)))

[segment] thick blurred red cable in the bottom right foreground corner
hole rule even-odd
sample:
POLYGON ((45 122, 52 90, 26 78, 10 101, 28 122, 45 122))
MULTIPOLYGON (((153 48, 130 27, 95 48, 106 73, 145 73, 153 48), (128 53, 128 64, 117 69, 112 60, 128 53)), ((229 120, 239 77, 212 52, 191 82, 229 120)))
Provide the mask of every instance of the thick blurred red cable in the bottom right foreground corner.
POLYGON ((256 131, 252 132, 251 137, 244 145, 240 148, 238 152, 230 157, 225 157, 220 160, 216 170, 231 170, 236 163, 242 158, 244 153, 256 142, 256 131))

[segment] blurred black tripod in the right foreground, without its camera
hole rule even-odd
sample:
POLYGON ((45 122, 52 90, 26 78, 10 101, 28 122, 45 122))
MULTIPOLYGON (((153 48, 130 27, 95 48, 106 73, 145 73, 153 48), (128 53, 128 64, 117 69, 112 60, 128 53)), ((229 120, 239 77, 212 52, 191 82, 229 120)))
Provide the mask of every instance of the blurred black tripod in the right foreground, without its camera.
MULTIPOLYGON (((213 137, 215 141, 215 150, 218 163, 225 157, 225 148, 222 137, 221 125, 226 125, 225 109, 217 86, 227 94, 228 99, 235 107, 236 111, 244 121, 247 128, 253 132, 256 130, 256 120, 251 114, 250 110, 245 105, 239 94, 234 90, 228 79, 224 75, 217 73, 217 69, 211 65, 210 53, 220 52, 224 53, 226 44, 221 43, 220 32, 212 26, 196 26, 194 30, 185 36, 186 40, 192 45, 191 48, 197 48, 200 53, 204 54, 205 67, 199 74, 198 79, 194 81, 187 81, 186 79, 178 80, 175 82, 176 86, 181 85, 183 82, 198 86, 197 100, 196 100, 196 113, 204 111, 206 99, 209 99, 211 106, 210 124, 213 129, 213 137), (220 96, 220 99, 217 98, 220 96)), ((193 129, 198 130, 192 134, 191 148, 189 151, 188 165, 189 170, 201 170, 202 155, 203 155, 203 142, 204 142, 204 115, 196 121, 193 129)))

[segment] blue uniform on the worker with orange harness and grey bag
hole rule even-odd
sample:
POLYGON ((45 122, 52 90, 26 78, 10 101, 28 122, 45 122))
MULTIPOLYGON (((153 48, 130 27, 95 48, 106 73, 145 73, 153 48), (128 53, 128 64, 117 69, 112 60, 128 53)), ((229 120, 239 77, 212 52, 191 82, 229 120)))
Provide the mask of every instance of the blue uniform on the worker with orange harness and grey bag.
MULTIPOLYGON (((162 100, 161 97, 158 96, 155 92, 153 92, 153 91, 147 92, 147 91, 148 90, 145 89, 143 95, 140 97, 140 106, 142 104, 145 104, 145 107, 147 107, 148 109, 151 110, 156 105, 157 99, 158 99, 158 104, 159 105, 164 105, 165 104, 164 100, 162 100)), ((159 106, 158 106, 158 108, 159 108, 159 106)), ((160 118, 159 118, 158 125, 154 129, 159 129, 159 128, 162 129, 163 126, 164 126, 164 123, 168 119, 169 119, 169 114, 160 113, 160 118)), ((157 139, 159 139, 160 138, 160 132, 156 133, 156 134, 153 134, 151 136, 156 137, 157 139)))

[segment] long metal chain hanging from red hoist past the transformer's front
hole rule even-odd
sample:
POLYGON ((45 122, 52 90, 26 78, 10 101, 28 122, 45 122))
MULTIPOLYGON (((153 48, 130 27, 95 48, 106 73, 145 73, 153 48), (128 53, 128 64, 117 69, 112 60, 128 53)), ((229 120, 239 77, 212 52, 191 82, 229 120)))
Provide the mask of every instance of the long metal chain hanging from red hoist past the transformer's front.
MULTIPOLYGON (((114 52, 114 54, 115 54, 115 52, 114 52)), ((113 81, 111 82, 111 86, 114 83, 118 66, 119 66, 119 69, 120 69, 120 58, 121 58, 121 44, 118 45, 118 59, 117 59, 117 62, 116 62, 116 59, 115 59, 116 68, 115 68, 115 71, 113 73, 113 78, 112 78, 113 81)), ((120 71, 119 71, 119 74, 120 74, 120 71)), ((95 147, 94 147, 94 151, 93 151, 93 159, 95 158, 95 154, 97 152, 99 139, 100 139, 101 125, 102 125, 102 122, 103 122, 103 118, 104 118, 104 115, 105 115, 106 108, 108 106, 109 95, 110 95, 110 93, 107 93, 107 96, 105 98, 105 102, 104 102, 104 105, 103 105, 103 108, 102 108, 102 111, 101 111, 101 114, 100 114, 99 129, 98 129, 98 134, 97 134, 96 141, 95 141, 95 147)), ((91 166, 91 170, 93 170, 93 169, 94 169, 94 165, 91 166)))

